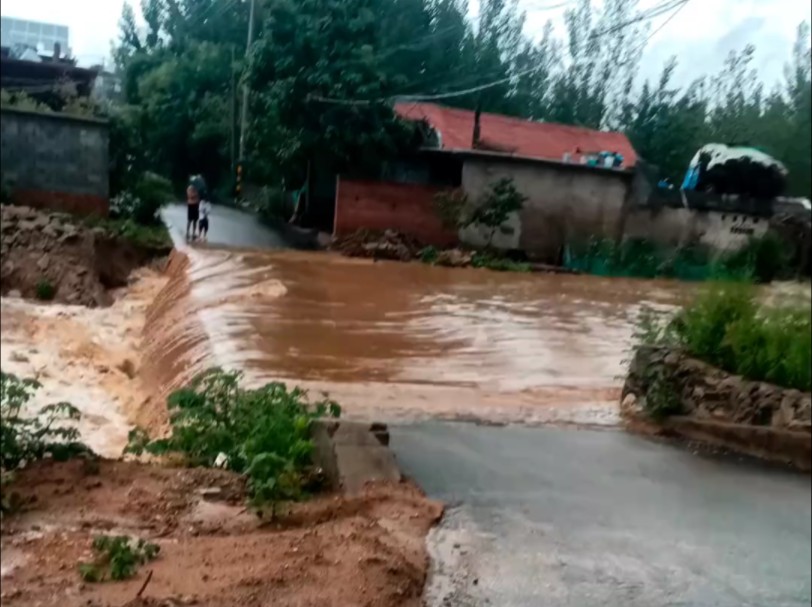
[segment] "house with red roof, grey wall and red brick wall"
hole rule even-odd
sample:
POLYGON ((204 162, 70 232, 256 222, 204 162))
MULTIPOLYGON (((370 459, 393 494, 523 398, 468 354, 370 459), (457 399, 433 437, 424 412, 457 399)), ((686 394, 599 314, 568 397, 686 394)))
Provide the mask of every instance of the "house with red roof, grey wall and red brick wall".
POLYGON ((476 200, 502 177, 511 178, 527 200, 493 246, 554 260, 567 242, 622 234, 638 163, 625 135, 431 103, 398 103, 395 111, 427 124, 430 145, 391 163, 382 179, 339 176, 334 235, 395 229, 426 244, 482 245, 487 236, 477 226, 456 233, 443 227, 434 198, 461 188, 476 200), (596 166, 602 152, 622 157, 620 166, 596 166))

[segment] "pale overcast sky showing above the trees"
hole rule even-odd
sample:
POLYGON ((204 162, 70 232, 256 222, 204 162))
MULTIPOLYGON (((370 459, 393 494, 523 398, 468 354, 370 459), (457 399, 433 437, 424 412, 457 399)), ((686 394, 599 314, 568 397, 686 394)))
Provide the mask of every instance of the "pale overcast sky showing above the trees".
MULTIPOLYGON (((519 0, 527 11, 528 34, 541 31, 548 19, 560 27, 566 0, 519 0)), ((662 0, 641 0, 647 8, 662 0)), ((70 47, 83 65, 109 57, 116 36, 122 0, 2 0, 2 14, 67 25, 70 47)), ((136 2, 137 5, 137 2, 136 2)), ((757 46, 757 64, 768 83, 782 78, 795 30, 810 20, 810 0, 691 0, 649 42, 641 76, 656 78, 672 55, 679 58, 677 79, 686 83, 702 73, 717 71, 727 53, 747 43, 757 46)), ((138 11, 136 11, 138 12, 138 11)), ((652 20, 652 31, 668 15, 652 20)))

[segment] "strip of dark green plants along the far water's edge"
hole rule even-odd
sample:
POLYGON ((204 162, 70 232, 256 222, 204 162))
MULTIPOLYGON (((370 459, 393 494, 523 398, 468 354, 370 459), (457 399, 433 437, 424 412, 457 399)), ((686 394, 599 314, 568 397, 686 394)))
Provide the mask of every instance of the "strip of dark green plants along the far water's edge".
POLYGON ((696 245, 668 251, 650 241, 592 239, 568 251, 565 265, 600 276, 770 282, 789 278, 791 256, 774 235, 753 238, 741 250, 713 257, 696 245))

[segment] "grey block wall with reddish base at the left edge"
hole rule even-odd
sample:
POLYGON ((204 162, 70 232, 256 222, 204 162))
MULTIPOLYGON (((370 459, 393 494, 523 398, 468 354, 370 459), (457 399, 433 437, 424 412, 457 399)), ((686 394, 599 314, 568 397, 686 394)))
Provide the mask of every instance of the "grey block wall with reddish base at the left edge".
POLYGON ((2 178, 16 204, 107 214, 105 121, 3 108, 0 152, 2 178))

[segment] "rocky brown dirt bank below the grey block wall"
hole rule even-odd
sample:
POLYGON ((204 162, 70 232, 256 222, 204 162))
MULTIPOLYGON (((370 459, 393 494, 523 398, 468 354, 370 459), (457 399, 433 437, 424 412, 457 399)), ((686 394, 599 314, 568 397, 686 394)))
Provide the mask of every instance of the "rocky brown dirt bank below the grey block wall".
POLYGON ((43 296, 89 307, 112 304, 111 289, 130 273, 165 257, 171 245, 146 246, 77 223, 64 213, 4 205, 0 291, 25 298, 43 296), (38 293, 39 291, 39 293, 38 293))

